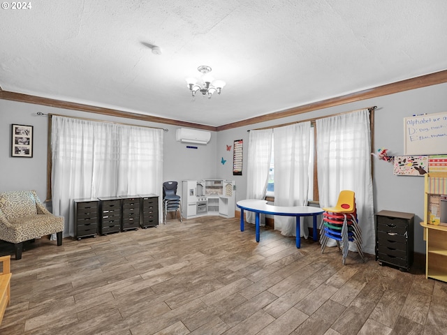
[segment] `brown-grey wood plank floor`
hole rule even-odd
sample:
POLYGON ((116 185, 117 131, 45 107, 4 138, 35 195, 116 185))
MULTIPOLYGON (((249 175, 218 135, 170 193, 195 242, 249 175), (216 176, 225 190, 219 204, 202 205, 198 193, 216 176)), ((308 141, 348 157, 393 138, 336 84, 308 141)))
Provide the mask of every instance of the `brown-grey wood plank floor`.
POLYGON ((447 334, 447 283, 274 230, 257 244, 237 218, 42 238, 11 263, 1 335, 447 334))

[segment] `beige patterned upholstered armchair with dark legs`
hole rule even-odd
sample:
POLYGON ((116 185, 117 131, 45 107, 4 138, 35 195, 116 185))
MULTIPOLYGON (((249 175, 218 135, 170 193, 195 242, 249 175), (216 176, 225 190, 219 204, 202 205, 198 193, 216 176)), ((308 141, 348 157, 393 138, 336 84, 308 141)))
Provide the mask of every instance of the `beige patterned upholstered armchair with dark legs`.
POLYGON ((15 259, 22 258, 23 242, 49 234, 57 234, 62 245, 64 217, 48 211, 36 191, 0 193, 0 239, 14 244, 15 259))

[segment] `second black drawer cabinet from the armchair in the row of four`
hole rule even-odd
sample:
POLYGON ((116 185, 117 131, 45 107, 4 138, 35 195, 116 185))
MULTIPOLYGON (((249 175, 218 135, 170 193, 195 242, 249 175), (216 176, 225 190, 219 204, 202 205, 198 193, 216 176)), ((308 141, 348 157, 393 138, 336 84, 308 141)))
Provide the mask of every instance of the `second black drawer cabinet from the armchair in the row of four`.
POLYGON ((121 231, 121 199, 117 197, 98 198, 100 202, 101 235, 121 231))

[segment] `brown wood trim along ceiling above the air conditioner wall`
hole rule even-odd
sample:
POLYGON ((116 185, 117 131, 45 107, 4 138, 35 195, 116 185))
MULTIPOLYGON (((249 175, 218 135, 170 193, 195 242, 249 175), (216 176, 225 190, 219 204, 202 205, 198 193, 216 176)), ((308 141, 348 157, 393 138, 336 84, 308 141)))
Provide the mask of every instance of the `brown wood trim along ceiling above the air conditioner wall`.
POLYGON ((126 119, 142 120, 156 122, 159 124, 171 124, 173 126, 182 126, 203 129, 206 131, 216 131, 214 126, 206 126, 203 124, 193 124, 192 122, 178 121, 174 119, 165 119, 163 117, 154 117, 151 115, 137 114, 133 112, 124 112, 122 110, 112 110, 110 108, 96 107, 84 105, 82 103, 71 103, 51 98, 43 98, 41 96, 31 96, 28 94, 15 93, 10 91, 0 91, 0 99, 18 101, 21 103, 33 103, 35 105, 44 105, 56 108, 64 108, 66 110, 80 110, 82 112, 90 112, 95 114, 109 115, 112 117, 124 117, 126 119))

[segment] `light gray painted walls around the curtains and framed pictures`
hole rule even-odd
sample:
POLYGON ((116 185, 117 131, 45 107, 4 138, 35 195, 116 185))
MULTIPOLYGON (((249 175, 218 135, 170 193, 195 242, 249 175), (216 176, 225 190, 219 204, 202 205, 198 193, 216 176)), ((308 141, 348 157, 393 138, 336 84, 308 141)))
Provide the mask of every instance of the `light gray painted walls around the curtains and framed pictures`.
MULTIPOLYGON (((207 178, 235 180, 237 187, 236 200, 242 200, 245 198, 247 189, 247 148, 249 138, 247 129, 300 121, 374 105, 378 107, 374 122, 374 152, 383 147, 389 149, 390 155, 403 155, 404 117, 413 114, 445 112, 447 110, 447 84, 438 84, 367 101, 348 103, 219 133, 212 132, 210 143, 207 145, 199 144, 197 145, 198 149, 186 149, 186 144, 175 141, 175 129, 178 128, 177 126, 136 120, 126 121, 121 118, 106 117, 98 114, 0 100, 0 191, 36 189, 38 195, 45 199, 47 118, 37 117, 35 115, 36 112, 168 128, 169 131, 165 133, 163 146, 163 180, 182 181, 184 179, 207 178), (33 158, 10 157, 11 124, 34 126, 33 158), (240 139, 244 140, 242 176, 233 176, 233 149, 226 151, 226 145, 233 145, 234 140, 240 139), (224 165, 221 164, 222 157, 226 160, 224 165)), ((182 191, 181 187, 181 183, 179 183, 179 194, 182 191)), ((423 230, 419 225, 420 221, 423 220, 423 195, 423 177, 395 176, 392 164, 374 160, 374 209, 376 212, 388 209, 416 214, 414 239, 415 250, 418 253, 425 253, 423 230)))

